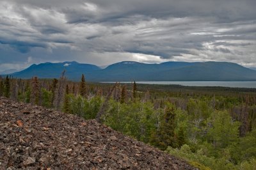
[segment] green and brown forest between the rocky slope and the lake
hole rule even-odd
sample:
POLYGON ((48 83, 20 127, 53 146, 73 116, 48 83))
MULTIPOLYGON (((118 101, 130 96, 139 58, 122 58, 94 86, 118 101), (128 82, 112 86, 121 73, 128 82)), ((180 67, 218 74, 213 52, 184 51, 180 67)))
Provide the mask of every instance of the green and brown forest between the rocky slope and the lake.
POLYGON ((198 169, 256 169, 256 89, 0 77, 0 96, 96 119, 198 169))

